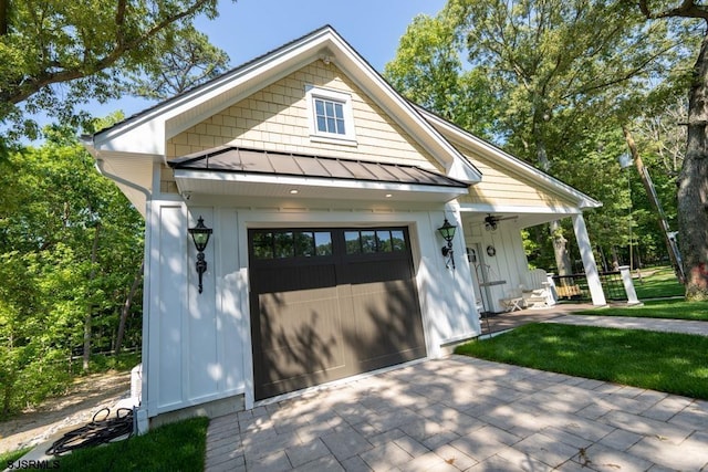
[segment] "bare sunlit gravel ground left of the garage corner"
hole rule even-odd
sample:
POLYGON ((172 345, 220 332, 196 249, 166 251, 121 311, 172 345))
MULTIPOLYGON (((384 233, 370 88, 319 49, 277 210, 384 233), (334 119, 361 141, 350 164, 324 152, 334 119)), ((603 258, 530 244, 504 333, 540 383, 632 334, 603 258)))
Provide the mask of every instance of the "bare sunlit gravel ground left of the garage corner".
POLYGON ((76 379, 70 392, 35 410, 0 422, 0 453, 40 444, 58 431, 81 427, 103 407, 131 396, 131 373, 93 374, 76 379))

